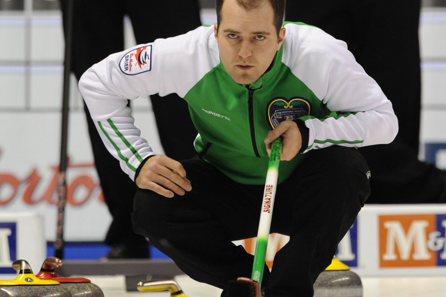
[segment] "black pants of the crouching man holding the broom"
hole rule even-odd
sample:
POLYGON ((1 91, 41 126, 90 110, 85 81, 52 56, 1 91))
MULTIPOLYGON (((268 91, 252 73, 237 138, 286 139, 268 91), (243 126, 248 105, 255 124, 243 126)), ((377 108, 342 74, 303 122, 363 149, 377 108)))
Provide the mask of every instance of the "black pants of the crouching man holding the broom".
MULTIPOLYGON (((251 277, 253 256, 231 241, 257 235, 264 185, 236 183, 198 157, 182 164, 192 191, 165 198, 138 190, 135 232, 197 281, 225 289, 229 280, 251 277)), ((290 241, 271 273, 265 266, 267 296, 313 296, 313 283, 370 194, 368 170, 356 149, 333 146, 311 152, 278 186, 271 232, 290 241)))

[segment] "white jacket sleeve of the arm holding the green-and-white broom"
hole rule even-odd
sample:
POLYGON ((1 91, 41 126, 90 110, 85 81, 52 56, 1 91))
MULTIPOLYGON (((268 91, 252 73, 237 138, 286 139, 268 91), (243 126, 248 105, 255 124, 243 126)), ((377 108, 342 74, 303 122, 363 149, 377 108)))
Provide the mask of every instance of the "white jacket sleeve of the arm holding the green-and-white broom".
POLYGON ((323 119, 303 118, 309 128, 306 151, 390 143, 398 132, 392 104, 346 44, 311 26, 292 24, 286 33, 298 37, 286 45, 294 55, 284 62, 333 112, 323 119))

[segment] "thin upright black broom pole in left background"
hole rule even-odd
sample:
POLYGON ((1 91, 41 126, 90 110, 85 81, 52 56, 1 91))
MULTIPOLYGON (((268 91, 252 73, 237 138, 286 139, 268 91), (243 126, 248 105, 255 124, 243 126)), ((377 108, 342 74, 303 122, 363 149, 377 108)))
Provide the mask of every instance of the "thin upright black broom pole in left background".
POLYGON ((63 227, 66 203, 66 168, 68 163, 67 143, 68 143, 68 113, 70 94, 70 73, 71 73, 71 44, 73 33, 73 0, 66 0, 66 30, 65 30, 65 53, 63 60, 63 93, 62 93, 62 125, 60 135, 60 162, 58 175, 58 201, 57 201, 57 227, 55 256, 63 259, 63 227))

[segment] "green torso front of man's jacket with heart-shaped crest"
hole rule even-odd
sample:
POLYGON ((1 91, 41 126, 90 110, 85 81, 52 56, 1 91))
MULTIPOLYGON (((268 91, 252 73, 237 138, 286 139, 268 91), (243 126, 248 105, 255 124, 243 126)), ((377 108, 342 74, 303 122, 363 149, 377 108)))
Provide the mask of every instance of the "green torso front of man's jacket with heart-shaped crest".
MULTIPOLYGON (((195 143, 198 152, 237 182, 265 182, 268 154, 264 139, 273 126, 301 116, 330 114, 281 63, 281 55, 282 49, 271 69, 249 86, 235 83, 220 63, 184 97, 201 136, 195 143)), ((281 161, 279 182, 304 157, 298 154, 291 161, 281 161)))

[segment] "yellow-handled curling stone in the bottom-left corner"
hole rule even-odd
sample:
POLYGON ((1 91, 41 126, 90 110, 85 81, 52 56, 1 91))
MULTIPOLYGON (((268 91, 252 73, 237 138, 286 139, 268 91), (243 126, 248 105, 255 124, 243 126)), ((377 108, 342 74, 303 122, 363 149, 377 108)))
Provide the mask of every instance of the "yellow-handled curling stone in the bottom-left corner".
POLYGON ((0 297, 71 297, 59 282, 37 278, 25 260, 15 260, 12 268, 19 273, 14 280, 0 281, 0 297))

